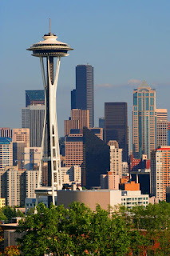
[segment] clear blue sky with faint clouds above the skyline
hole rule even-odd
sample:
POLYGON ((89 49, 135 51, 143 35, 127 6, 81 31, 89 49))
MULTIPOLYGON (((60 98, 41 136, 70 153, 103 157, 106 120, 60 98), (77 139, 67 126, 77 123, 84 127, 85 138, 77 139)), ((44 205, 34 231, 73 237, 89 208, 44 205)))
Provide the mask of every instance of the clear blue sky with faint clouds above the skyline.
POLYGON ((6 0, 0 2, 0 126, 21 127, 25 90, 42 90, 38 58, 29 48, 51 31, 74 49, 61 59, 57 89, 59 136, 70 116, 75 67, 94 67, 95 126, 105 102, 128 102, 145 80, 156 89, 156 107, 170 120, 170 1, 6 0))

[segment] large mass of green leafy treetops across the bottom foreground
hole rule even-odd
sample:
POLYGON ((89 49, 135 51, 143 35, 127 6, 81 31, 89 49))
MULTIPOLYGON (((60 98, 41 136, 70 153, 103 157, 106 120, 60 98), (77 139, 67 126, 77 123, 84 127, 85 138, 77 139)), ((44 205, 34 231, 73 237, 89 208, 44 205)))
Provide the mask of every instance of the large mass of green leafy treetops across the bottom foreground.
POLYGON ((95 211, 80 202, 64 206, 37 207, 38 213, 20 222, 25 232, 18 239, 24 255, 170 255, 170 205, 117 207, 95 211), (111 214, 112 210, 112 214, 111 214), (34 241, 34 242, 33 242, 34 241), (159 246, 153 248, 154 243, 159 246))

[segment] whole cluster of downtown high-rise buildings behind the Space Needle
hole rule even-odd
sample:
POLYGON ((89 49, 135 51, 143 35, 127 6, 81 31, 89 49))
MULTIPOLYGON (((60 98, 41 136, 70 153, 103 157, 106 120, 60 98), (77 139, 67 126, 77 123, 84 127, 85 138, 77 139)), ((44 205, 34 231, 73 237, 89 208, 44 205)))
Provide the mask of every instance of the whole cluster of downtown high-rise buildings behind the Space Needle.
MULTIPOLYGON (((41 162, 44 90, 26 90, 21 114, 21 128, 0 128, 0 195, 3 205, 30 210, 41 162)), ((92 209, 96 202, 106 209, 108 204, 130 208, 169 200, 169 127, 168 110, 156 109, 156 90, 146 82, 133 90, 132 129, 127 102, 105 102, 105 117, 94 127, 93 66, 77 65, 71 116, 59 139, 63 187, 57 204, 80 200, 92 209)), ((46 134, 45 150, 47 144, 46 134)), ((46 162, 41 182, 48 186, 46 162)))

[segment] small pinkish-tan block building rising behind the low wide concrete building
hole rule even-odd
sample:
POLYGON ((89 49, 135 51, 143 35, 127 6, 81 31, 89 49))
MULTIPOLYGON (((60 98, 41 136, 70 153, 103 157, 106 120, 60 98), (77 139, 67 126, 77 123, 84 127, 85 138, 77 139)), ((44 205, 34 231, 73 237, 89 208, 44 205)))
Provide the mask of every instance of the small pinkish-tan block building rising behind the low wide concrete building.
POLYGON ((102 190, 119 190, 120 176, 114 175, 111 171, 108 174, 101 174, 102 190))

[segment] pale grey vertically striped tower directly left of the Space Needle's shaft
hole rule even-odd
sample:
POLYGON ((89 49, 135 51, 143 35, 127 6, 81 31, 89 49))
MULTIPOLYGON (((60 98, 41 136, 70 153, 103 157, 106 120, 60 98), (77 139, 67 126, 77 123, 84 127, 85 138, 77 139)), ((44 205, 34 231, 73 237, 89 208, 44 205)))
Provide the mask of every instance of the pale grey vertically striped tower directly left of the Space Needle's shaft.
POLYGON ((30 146, 42 146, 45 106, 35 105, 22 109, 22 128, 30 128, 30 146), (26 127, 27 126, 27 127, 26 127))

